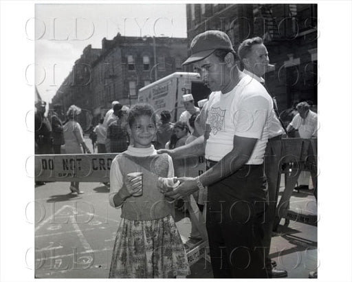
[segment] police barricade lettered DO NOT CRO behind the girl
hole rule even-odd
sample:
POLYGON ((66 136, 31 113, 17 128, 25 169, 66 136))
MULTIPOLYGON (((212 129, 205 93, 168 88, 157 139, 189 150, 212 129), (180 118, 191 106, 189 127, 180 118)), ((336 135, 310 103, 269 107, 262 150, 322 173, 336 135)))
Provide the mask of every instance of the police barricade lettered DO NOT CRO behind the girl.
MULTIPOLYGON (((36 182, 109 182, 111 162, 118 153, 98 154, 62 154, 62 155, 35 155, 34 171, 36 182)), ((186 175, 199 175, 205 171, 203 157, 198 158, 185 168, 186 175)), ((192 195, 186 199, 188 211, 195 222, 202 240, 197 243, 187 243, 187 255, 190 265, 201 257, 209 260, 208 238, 205 219, 200 213, 192 195)))

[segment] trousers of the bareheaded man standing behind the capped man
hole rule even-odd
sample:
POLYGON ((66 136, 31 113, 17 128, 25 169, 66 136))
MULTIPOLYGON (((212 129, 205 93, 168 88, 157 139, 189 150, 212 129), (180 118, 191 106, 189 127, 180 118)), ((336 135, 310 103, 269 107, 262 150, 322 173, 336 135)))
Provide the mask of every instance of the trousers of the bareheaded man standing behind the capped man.
POLYGON ((274 225, 275 210, 278 201, 278 190, 280 188, 281 169, 280 160, 283 143, 281 139, 269 140, 265 150, 264 170, 267 177, 267 188, 269 195, 269 207, 267 208, 266 221, 264 224, 264 246, 265 246, 265 265, 267 270, 272 270, 271 259, 269 258, 270 245, 272 242, 272 228, 274 225))

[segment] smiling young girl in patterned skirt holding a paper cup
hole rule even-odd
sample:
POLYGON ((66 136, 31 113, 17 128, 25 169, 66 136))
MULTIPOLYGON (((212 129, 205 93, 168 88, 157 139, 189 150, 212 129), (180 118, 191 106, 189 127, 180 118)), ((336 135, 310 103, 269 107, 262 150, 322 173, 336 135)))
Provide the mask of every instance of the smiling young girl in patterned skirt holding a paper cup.
POLYGON ((150 105, 137 104, 129 113, 133 147, 111 164, 111 206, 121 207, 109 278, 174 278, 190 274, 184 244, 171 216, 173 205, 157 188, 159 177, 173 177, 169 155, 151 144, 156 116, 150 105), (128 177, 142 172, 142 177, 128 177), (142 191, 141 191, 142 190, 142 191), (140 195, 142 193, 142 195, 140 195))

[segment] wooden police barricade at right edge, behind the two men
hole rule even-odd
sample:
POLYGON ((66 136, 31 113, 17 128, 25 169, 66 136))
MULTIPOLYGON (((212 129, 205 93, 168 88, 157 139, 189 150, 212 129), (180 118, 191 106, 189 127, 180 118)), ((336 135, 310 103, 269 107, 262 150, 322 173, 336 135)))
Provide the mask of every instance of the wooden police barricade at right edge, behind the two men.
POLYGON ((285 173, 285 189, 280 202, 276 208, 274 230, 282 218, 285 218, 285 225, 289 220, 299 221, 312 226, 317 225, 318 217, 303 210, 290 210, 289 199, 292 196, 298 177, 302 171, 309 171, 314 186, 317 184, 317 138, 283 138, 283 151, 280 162, 281 173, 285 173))

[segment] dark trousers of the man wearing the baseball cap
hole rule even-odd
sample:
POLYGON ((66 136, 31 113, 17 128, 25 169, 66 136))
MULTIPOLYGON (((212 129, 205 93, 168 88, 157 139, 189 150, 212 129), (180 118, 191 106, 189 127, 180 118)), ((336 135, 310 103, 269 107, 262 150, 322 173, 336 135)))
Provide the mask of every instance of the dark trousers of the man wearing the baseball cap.
POLYGON ((206 228, 214 278, 267 278, 263 165, 243 166, 208 187, 206 228))

